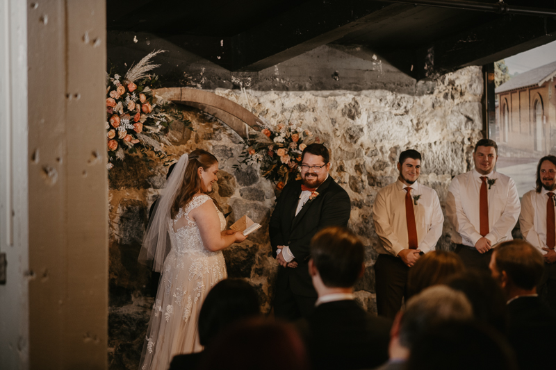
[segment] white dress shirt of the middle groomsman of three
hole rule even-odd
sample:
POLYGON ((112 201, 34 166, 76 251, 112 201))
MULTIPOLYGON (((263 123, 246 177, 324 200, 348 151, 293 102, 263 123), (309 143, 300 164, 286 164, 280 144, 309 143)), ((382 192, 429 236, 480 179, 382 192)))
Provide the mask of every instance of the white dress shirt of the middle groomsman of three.
MULTIPOLYGON (((452 242, 475 246, 482 237, 480 234, 479 201, 481 189, 481 174, 475 169, 453 178, 448 187, 446 199, 446 217, 454 226, 452 242)), ((512 229, 516 226, 521 205, 517 194, 516 184, 512 178, 491 171, 486 175, 496 182, 490 186, 486 184, 489 196, 489 233, 484 237, 495 244, 513 240, 512 229)))

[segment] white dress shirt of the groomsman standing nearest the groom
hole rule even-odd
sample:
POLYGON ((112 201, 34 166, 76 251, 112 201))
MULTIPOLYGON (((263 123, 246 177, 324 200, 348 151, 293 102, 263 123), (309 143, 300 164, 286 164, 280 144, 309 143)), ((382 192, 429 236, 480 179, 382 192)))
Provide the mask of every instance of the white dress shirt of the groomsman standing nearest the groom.
MULTIPOLYGON (((405 216, 406 187, 407 185, 397 180, 383 187, 377 194, 373 204, 373 221, 380 238, 378 253, 398 255, 403 249, 409 248, 405 216)), ((442 235, 444 223, 439 196, 430 187, 417 182, 410 187, 414 202, 418 249, 423 253, 434 251, 434 246, 442 235), (420 196, 418 201, 414 201, 416 195, 420 196)))

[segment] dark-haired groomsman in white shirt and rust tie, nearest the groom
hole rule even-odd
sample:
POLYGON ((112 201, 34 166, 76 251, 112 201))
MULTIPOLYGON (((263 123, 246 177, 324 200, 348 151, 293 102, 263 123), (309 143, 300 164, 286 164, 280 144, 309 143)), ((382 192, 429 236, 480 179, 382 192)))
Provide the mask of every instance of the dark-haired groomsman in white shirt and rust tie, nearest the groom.
POLYGON ((407 274, 422 253, 434 251, 442 235, 444 216, 439 196, 417 183, 421 155, 400 154, 398 180, 379 190, 373 205, 375 231, 380 238, 375 263, 378 314, 393 319, 407 299, 407 274))

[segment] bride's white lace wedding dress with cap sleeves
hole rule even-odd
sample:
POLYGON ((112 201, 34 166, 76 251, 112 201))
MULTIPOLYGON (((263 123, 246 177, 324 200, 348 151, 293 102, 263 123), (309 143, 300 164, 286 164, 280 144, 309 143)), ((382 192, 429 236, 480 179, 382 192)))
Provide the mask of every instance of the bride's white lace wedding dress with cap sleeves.
MULTIPOLYGON (((158 284, 147 337, 141 354, 140 370, 165 370, 174 355, 202 351, 197 333, 199 311, 208 290, 227 278, 222 252, 204 248, 199 228, 189 212, 212 199, 195 196, 168 220, 171 249, 158 284)), ((216 206, 215 206, 216 208, 216 206)), ((220 231, 226 227, 220 210, 220 231)))

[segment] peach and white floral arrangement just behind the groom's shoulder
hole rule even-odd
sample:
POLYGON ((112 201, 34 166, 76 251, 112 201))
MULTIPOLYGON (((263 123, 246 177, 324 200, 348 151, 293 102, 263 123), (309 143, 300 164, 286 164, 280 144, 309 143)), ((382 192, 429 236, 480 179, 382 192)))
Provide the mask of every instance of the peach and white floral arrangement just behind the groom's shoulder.
POLYGON ((265 125, 260 133, 254 133, 245 141, 240 163, 259 163, 262 176, 282 190, 288 180, 301 178, 301 153, 313 142, 319 142, 318 137, 313 137, 311 131, 295 124, 278 124, 275 128, 265 125))

